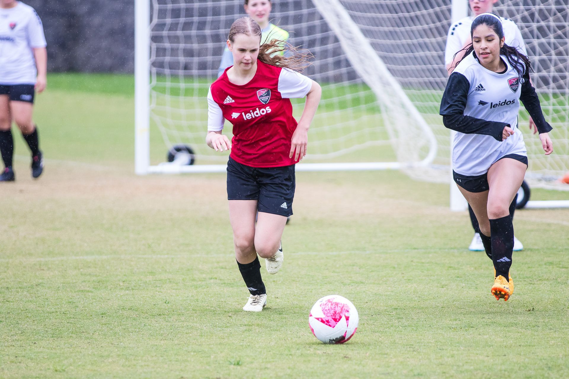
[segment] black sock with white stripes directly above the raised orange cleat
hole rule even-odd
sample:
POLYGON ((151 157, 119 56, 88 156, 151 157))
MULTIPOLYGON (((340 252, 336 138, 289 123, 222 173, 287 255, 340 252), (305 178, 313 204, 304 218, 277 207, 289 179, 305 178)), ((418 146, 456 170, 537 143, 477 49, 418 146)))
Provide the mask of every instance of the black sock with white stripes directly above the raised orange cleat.
POLYGON ((510 215, 491 219, 490 233, 492 234, 492 261, 494 261, 496 276, 501 275, 508 280, 514 248, 514 226, 510 215))

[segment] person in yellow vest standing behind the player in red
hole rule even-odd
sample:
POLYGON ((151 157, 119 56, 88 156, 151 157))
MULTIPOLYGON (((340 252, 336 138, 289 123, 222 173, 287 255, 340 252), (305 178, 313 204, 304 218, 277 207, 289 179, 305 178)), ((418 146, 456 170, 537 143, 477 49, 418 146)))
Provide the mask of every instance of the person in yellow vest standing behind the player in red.
MULTIPOLYGON (((248 14, 252 19, 254 19, 261 27, 261 44, 270 40, 288 40, 288 32, 271 24, 269 22, 269 16, 271 14, 271 2, 270 0, 245 0, 244 4, 245 13, 248 14)), ((279 51, 278 54, 283 55, 284 51, 279 51)), ((226 68, 233 66, 233 55, 229 51, 227 45, 221 56, 221 63, 217 69, 217 77, 225 71, 226 68)))

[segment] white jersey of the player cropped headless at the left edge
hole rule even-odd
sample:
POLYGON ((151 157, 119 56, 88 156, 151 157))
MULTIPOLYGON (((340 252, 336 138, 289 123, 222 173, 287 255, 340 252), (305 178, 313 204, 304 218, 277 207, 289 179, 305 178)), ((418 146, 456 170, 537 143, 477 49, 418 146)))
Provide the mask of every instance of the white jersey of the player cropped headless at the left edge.
POLYGON ((32 48, 46 45, 42 20, 31 6, 18 2, 0 9, 0 84, 35 84, 32 48))

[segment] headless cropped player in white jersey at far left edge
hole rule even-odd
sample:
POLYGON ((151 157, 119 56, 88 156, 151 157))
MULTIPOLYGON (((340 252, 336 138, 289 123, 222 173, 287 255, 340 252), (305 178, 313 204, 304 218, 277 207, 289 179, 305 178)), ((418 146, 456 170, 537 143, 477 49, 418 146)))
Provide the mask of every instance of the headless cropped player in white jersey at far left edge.
POLYGON ((32 177, 43 172, 38 129, 32 120, 34 92, 46 88, 47 50, 42 20, 19 1, 0 0, 0 181, 14 181, 12 120, 32 153, 32 177))

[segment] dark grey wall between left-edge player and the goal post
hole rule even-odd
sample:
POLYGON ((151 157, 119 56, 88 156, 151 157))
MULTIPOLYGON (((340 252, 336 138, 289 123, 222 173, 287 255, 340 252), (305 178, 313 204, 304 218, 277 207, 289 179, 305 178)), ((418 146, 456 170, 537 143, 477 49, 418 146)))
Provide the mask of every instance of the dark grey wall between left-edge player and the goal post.
POLYGON ((24 0, 42 18, 50 72, 134 72, 134 0, 24 0))

